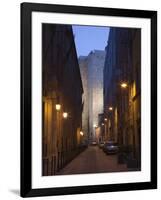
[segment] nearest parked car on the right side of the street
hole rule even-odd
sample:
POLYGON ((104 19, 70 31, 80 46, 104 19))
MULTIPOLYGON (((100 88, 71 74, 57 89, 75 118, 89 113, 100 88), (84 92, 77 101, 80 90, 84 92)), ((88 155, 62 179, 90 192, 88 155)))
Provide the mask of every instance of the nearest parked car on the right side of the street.
POLYGON ((102 149, 106 154, 116 154, 119 151, 118 144, 114 141, 106 142, 102 149))

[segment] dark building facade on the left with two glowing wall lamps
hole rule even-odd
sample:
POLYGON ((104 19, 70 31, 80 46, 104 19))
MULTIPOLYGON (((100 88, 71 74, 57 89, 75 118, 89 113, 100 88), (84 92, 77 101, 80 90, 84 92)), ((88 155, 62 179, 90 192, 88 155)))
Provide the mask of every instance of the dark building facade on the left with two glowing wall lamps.
POLYGON ((42 174, 54 175, 78 152, 82 80, 70 25, 42 25, 42 174))

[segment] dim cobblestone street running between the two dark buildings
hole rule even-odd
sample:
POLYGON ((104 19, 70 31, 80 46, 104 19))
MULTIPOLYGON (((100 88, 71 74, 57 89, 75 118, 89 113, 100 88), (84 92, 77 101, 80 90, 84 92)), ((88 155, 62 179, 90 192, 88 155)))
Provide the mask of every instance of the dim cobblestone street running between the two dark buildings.
POLYGON ((89 146, 57 174, 82 174, 128 171, 125 164, 117 164, 116 155, 106 155, 98 146, 89 146))

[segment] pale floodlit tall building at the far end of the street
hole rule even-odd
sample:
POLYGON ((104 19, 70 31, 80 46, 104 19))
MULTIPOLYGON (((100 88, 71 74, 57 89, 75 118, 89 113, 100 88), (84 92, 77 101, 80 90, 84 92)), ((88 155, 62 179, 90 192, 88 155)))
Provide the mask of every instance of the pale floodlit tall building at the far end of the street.
POLYGON ((88 130, 88 138, 95 139, 98 114, 103 112, 103 67, 105 51, 94 50, 79 58, 84 88, 84 110, 82 127, 88 130), (88 124, 87 124, 88 122, 88 124))

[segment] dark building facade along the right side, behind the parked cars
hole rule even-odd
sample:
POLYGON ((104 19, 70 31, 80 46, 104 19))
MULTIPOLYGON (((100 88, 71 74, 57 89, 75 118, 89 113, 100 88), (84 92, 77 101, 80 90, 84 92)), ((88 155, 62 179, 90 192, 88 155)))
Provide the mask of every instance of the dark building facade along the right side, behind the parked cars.
POLYGON ((141 157, 141 31, 110 28, 104 66, 107 138, 141 157))

